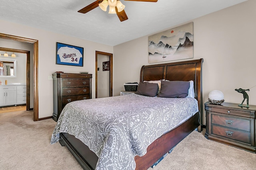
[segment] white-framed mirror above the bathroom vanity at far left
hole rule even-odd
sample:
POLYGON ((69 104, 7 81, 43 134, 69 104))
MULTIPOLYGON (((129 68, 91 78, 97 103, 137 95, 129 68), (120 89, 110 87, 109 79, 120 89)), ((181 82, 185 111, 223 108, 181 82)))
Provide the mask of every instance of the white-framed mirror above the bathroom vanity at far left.
POLYGON ((0 77, 16 77, 16 60, 0 59, 0 77))

